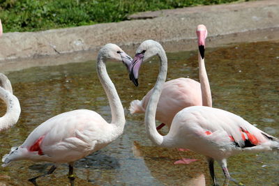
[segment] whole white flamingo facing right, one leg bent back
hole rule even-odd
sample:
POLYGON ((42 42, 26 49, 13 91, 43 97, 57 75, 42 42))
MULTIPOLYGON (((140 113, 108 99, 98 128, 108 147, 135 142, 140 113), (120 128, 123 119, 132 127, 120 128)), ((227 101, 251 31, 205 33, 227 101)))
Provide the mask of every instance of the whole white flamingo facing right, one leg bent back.
POLYGON ((74 185, 73 164, 75 161, 107 146, 123 133, 125 116, 116 88, 105 66, 105 61, 122 61, 127 67, 132 58, 114 44, 107 44, 98 52, 96 64, 100 83, 105 89, 112 110, 112 122, 107 123, 100 114, 88 109, 77 109, 56 115, 36 127, 19 147, 11 148, 2 158, 2 166, 17 160, 53 162, 50 170, 29 179, 37 185, 36 179, 47 176, 61 163, 68 163, 68 178, 74 185))

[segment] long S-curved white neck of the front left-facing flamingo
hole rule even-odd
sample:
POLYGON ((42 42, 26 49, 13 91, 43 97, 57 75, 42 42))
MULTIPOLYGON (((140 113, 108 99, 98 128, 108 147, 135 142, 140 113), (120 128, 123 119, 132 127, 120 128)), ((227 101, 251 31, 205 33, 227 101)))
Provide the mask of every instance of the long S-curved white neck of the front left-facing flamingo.
POLYGON ((155 116, 156 116, 158 100, 160 98, 160 94, 162 92, 165 79, 167 77, 167 56, 165 54, 165 51, 163 50, 160 50, 158 56, 160 58, 159 75, 157 78, 157 82, 153 87, 151 98, 149 99, 149 103, 145 111, 144 123, 145 123, 146 133, 149 139, 151 139, 151 141, 157 146, 165 146, 165 141, 163 140, 164 137, 160 135, 156 130, 155 116))

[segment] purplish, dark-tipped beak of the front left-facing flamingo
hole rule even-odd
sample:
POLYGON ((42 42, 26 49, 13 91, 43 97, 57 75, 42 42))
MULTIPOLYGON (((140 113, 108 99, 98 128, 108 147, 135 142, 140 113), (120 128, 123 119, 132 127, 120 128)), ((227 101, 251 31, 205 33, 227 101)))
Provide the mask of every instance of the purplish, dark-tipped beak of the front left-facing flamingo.
POLYGON ((130 68, 130 80, 135 84, 135 86, 139 86, 137 79, 139 77, 140 65, 144 61, 144 54, 135 54, 135 57, 132 61, 132 65, 130 68))

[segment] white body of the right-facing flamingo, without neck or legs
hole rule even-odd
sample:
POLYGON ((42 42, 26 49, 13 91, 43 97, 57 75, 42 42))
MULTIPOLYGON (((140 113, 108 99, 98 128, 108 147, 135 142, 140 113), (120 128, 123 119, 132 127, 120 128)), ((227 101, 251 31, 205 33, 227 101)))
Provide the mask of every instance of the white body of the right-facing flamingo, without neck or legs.
POLYGON ((4 166, 10 160, 22 159, 75 162, 110 144, 119 136, 113 131, 114 127, 95 111, 68 111, 36 127, 16 153, 3 158, 4 166))

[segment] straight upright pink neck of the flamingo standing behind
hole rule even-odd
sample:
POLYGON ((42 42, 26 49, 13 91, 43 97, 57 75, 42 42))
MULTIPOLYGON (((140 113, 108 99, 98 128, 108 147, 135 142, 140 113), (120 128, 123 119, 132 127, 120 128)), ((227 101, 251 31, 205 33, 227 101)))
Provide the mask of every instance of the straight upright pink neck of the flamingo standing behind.
POLYGON ((206 74, 204 59, 199 54, 199 82, 202 89, 202 105, 212 107, 212 97, 209 85, 209 78, 206 74))

